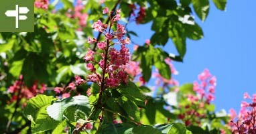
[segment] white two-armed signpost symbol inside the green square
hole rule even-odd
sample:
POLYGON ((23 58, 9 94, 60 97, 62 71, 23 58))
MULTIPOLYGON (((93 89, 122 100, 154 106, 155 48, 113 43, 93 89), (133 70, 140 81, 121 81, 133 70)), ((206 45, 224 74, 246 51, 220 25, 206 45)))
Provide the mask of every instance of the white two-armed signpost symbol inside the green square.
POLYGON ((19 20, 25 20, 27 19, 26 15, 19 15, 19 14, 26 14, 28 13, 29 9, 27 7, 19 7, 19 5, 16 5, 15 10, 7 10, 5 11, 5 15, 7 17, 15 17, 15 27, 19 28, 19 20))

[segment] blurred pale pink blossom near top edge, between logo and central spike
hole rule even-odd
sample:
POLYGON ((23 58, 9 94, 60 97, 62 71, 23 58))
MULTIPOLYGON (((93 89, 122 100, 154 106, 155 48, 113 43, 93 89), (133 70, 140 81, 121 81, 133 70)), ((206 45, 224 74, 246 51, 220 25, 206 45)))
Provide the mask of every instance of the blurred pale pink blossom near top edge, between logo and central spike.
POLYGON ((88 13, 83 13, 84 5, 82 4, 82 0, 76 1, 76 5, 74 7, 74 13, 71 13, 72 10, 69 9, 68 13, 66 13, 67 17, 77 18, 79 21, 80 27, 85 27, 88 19, 88 13))

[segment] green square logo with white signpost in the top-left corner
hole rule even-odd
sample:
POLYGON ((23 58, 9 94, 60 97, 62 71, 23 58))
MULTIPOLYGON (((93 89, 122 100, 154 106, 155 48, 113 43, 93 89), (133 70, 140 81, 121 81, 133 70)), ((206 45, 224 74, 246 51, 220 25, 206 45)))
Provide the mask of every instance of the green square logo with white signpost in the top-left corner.
POLYGON ((34 32, 34 0, 0 0, 0 32, 34 32))

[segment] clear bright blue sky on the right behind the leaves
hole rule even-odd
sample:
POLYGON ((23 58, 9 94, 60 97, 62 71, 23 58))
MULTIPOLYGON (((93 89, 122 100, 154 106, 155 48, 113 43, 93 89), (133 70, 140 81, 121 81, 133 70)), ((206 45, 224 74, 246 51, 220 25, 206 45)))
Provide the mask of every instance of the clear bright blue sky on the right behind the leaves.
MULTIPOLYGON (((204 31, 199 41, 187 40, 187 52, 183 63, 175 62, 179 71, 175 76, 180 84, 193 82, 204 68, 217 78, 216 111, 234 108, 239 111, 243 93, 256 93, 256 1, 228 0, 226 11, 219 11, 213 3, 206 21, 196 21, 204 31)), ((136 25, 139 38, 143 42, 153 34, 150 24, 136 25)), ((131 29, 131 28, 130 28, 131 29)), ((177 54, 172 42, 165 47, 168 52, 177 54)))

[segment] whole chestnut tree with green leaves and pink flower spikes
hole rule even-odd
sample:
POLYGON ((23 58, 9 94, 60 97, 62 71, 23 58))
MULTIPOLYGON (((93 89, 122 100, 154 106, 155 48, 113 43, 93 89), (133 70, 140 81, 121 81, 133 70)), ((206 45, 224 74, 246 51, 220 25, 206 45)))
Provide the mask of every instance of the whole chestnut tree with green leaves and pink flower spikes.
POLYGON ((226 0, 35 0, 34 33, 0 34, 0 133, 255 133, 256 95, 242 131, 214 111, 209 70, 175 80, 172 62, 203 38, 194 18, 211 2, 225 10, 226 0), (145 44, 133 43, 133 22, 151 23, 145 44))

